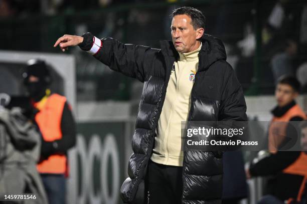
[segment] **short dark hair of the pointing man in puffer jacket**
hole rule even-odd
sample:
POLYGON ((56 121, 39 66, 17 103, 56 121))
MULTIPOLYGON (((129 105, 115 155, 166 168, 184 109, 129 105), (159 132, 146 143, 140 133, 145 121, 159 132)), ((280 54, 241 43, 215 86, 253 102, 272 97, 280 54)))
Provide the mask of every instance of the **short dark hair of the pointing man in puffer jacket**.
POLYGON ((193 8, 193 7, 180 7, 173 10, 171 13, 171 17, 173 18, 175 15, 183 15, 186 14, 191 17, 192 25, 194 29, 205 28, 206 17, 202 13, 202 11, 193 8))

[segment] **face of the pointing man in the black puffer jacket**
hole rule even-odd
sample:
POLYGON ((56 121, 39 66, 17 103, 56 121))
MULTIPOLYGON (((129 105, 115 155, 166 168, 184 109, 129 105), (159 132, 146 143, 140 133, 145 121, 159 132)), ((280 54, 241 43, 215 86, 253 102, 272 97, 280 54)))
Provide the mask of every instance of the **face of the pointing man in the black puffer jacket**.
POLYGON ((175 15, 171 25, 173 44, 180 53, 187 53, 196 50, 199 45, 199 39, 204 28, 194 29, 192 19, 186 14, 175 15))

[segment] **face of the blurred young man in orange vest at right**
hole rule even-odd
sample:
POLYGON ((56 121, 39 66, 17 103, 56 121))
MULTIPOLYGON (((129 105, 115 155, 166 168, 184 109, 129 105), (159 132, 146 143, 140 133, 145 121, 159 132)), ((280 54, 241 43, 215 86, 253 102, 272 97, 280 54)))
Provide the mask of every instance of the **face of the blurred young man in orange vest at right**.
POLYGON ((288 84, 278 83, 275 90, 275 98, 278 106, 283 107, 296 98, 298 93, 288 84))

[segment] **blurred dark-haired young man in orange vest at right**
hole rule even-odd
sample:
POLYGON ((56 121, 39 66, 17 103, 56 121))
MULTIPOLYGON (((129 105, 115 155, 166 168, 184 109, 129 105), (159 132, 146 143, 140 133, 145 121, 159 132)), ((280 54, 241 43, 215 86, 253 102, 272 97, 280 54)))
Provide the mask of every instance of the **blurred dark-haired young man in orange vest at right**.
MULTIPOLYGON (((295 203, 300 201, 304 183, 307 178, 307 154, 303 151, 289 150, 287 143, 297 140, 295 123, 306 115, 295 98, 298 96, 300 83, 293 76, 282 76, 275 90, 276 107, 272 110, 268 133, 269 152, 260 151, 260 156, 254 159, 247 170, 247 177, 268 176, 268 192, 258 202, 259 204, 295 203), (291 138, 288 140, 288 138, 291 138), (295 139, 296 138, 296 139, 295 139)), ((298 125, 297 125, 298 126, 298 125)))

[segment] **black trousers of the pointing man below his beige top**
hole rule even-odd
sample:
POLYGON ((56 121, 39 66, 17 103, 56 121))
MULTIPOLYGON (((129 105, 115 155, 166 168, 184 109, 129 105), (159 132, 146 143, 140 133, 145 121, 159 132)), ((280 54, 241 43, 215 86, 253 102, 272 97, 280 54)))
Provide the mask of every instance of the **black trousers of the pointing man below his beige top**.
POLYGON ((147 174, 147 204, 180 204, 182 167, 149 161, 147 174))

